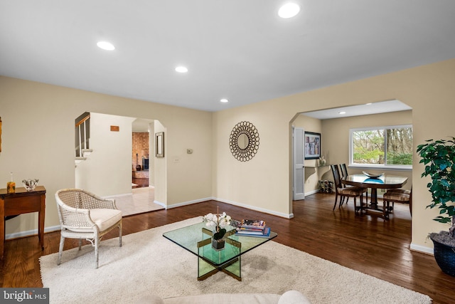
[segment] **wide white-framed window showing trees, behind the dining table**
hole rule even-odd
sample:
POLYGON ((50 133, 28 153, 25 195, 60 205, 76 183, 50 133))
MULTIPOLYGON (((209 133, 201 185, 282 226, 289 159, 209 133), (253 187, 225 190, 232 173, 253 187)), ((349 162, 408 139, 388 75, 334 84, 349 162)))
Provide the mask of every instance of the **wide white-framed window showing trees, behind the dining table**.
POLYGON ((350 165, 410 169, 412 125, 351 129, 350 165))

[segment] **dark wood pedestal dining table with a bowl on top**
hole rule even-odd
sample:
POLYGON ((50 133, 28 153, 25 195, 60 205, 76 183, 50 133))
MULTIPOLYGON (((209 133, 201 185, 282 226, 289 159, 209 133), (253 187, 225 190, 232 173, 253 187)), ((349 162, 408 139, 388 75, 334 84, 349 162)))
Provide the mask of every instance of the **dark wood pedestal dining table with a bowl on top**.
POLYGON ((370 204, 365 205, 367 209, 381 211, 383 216, 386 217, 390 212, 388 209, 380 209, 378 207, 378 189, 396 189, 403 187, 407 182, 407 177, 400 177, 392 174, 368 174, 358 173, 351 174, 341 179, 342 184, 348 184, 354 187, 370 188, 371 199, 370 204))

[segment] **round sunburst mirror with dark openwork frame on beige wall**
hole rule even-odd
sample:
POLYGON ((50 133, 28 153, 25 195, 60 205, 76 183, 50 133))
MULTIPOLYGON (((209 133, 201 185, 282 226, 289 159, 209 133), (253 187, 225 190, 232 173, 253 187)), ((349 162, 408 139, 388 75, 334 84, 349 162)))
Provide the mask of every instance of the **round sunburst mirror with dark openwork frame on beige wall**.
POLYGON ((230 132, 230 152, 240 162, 252 159, 259 149, 259 133, 251 122, 239 122, 230 132))

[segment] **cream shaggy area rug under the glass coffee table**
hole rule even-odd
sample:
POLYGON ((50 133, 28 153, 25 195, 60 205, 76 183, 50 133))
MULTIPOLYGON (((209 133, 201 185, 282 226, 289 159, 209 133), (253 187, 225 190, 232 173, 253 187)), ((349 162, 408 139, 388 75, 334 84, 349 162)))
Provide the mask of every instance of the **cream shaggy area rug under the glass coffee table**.
MULTIPOLYGON (((242 256, 242 282, 216 273, 197 281, 197 257, 162 234, 201 217, 102 241, 100 268, 92 246, 40 258, 50 303, 134 303, 144 295, 162 298, 203 293, 277 293, 299 290, 312 303, 431 303, 427 295, 379 280, 274 241, 242 256)), ((279 236, 278 236, 279 238, 279 236)))

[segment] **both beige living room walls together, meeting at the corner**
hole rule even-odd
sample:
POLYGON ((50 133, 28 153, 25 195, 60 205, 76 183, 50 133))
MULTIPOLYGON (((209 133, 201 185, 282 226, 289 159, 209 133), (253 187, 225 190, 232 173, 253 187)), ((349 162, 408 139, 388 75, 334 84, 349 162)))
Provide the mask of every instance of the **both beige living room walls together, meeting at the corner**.
MULTIPOLYGON (((159 161, 166 162, 167 183, 160 199, 168 206, 214 196, 291 217, 291 121, 296 113, 398 99, 413 109, 415 148, 424 140, 453 135, 454 83, 452 59, 212 114, 1 77, 0 182, 6 185, 10 171, 16 182, 40 178, 48 189, 45 225, 56 225, 53 193, 75 182, 75 117, 87 111, 159 119, 166 128, 166 159, 159 161), (232 157, 228 144, 232 127, 244 120, 257 127, 260 138, 249 162, 232 157), (193 154, 186 154, 187 148, 193 154)), ((414 154, 412 247, 424 251, 432 247, 427 234, 447 227, 432 221, 437 211, 425 209, 431 195, 422 171, 414 154)), ((33 216, 18 216, 9 221, 7 233, 35 227, 33 216)))

